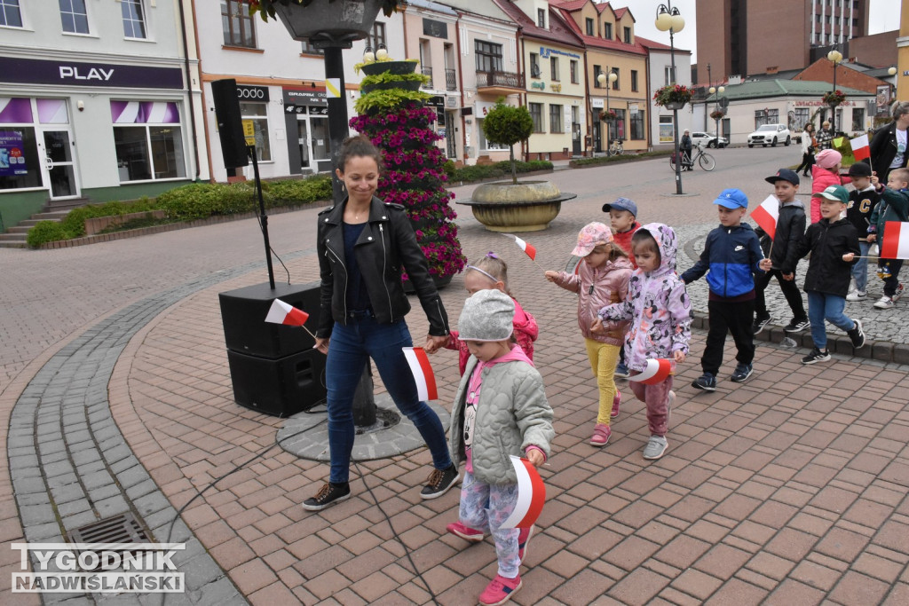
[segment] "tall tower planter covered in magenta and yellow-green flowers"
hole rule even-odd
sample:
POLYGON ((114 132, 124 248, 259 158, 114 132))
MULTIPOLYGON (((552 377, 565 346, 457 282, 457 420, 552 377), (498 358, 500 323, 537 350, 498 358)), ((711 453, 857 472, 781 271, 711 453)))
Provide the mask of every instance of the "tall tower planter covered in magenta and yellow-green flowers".
POLYGON ((445 189, 445 155, 435 145, 442 136, 430 128, 435 110, 425 105, 428 94, 412 90, 427 76, 414 74, 413 61, 375 62, 362 69, 366 92, 356 102, 358 115, 350 125, 382 150, 385 172, 376 195, 405 207, 429 274, 436 287, 443 287, 466 260, 449 205, 454 194, 445 189))

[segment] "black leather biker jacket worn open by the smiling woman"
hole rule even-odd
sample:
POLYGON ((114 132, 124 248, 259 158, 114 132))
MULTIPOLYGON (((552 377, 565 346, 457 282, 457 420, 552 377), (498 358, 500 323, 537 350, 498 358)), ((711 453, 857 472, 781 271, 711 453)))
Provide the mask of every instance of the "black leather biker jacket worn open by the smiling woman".
MULTIPOLYGON (((322 278, 319 326, 316 336, 327 339, 335 322, 348 321, 347 266, 344 253, 344 209, 347 201, 319 213, 319 273, 322 278)), ((429 319, 429 333, 449 333, 448 316, 442 299, 429 276, 426 257, 416 242, 414 228, 401 204, 386 204, 373 196, 369 221, 355 245, 356 262, 363 275, 375 319, 393 323, 410 311, 410 302, 401 282, 402 267, 414 285, 416 295, 429 319)))

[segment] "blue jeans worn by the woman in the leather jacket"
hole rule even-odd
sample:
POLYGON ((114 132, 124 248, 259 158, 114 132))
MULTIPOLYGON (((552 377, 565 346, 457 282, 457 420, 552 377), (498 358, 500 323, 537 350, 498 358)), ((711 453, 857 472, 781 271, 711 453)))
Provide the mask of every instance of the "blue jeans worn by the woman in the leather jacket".
POLYGON ((375 362, 395 406, 423 436, 435 468, 451 466, 445 429, 433 409, 417 398, 414 375, 401 349, 413 344, 404 320, 381 324, 372 315, 365 315, 348 318, 347 325, 335 323, 325 363, 328 447, 332 460, 329 482, 347 482, 350 473, 355 438, 354 392, 368 358, 375 362))

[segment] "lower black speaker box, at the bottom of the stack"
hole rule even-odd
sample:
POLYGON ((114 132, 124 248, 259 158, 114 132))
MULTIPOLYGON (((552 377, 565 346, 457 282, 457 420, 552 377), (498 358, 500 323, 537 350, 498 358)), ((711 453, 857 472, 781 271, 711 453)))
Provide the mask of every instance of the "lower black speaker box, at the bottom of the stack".
POLYGON ((245 408, 287 417, 325 401, 325 354, 315 349, 268 360, 227 350, 234 400, 245 408))

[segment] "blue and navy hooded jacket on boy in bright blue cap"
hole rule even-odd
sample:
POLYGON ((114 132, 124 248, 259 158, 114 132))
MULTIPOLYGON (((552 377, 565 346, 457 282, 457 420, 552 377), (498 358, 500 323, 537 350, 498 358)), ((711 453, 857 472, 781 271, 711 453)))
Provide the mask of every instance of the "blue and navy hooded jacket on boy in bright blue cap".
POLYGON ((682 281, 692 283, 706 273, 714 296, 741 297, 754 291, 754 274, 764 273, 758 265, 763 258, 761 243, 751 225, 720 225, 707 234, 701 258, 682 274, 682 281))

